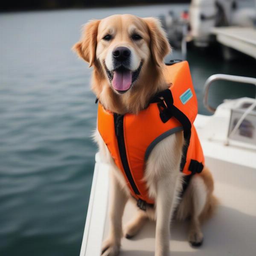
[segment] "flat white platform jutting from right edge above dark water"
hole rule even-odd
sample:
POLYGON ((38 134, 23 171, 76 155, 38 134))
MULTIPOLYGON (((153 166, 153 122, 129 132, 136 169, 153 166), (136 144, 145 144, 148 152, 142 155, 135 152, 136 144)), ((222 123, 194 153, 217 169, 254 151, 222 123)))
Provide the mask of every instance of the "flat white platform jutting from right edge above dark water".
POLYGON ((256 58, 256 29, 238 26, 216 27, 212 29, 212 33, 221 44, 256 58))

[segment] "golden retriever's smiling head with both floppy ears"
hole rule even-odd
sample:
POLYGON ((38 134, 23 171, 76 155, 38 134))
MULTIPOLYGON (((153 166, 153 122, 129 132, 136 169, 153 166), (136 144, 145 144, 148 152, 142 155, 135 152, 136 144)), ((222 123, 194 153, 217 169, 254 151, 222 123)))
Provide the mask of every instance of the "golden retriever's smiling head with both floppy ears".
POLYGON ((73 49, 98 77, 104 76, 107 83, 101 81, 101 90, 111 88, 121 97, 144 86, 142 80, 160 69, 170 46, 157 19, 113 15, 87 23, 73 49))

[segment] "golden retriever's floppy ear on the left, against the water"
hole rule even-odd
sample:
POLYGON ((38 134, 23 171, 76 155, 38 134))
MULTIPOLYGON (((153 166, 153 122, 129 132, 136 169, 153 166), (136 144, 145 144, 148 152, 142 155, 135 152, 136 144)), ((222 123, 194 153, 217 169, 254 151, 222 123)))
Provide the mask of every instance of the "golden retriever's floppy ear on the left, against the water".
POLYGON ((86 23, 83 28, 81 40, 72 47, 79 57, 89 62, 89 67, 93 65, 96 58, 99 22, 100 20, 91 20, 86 23))

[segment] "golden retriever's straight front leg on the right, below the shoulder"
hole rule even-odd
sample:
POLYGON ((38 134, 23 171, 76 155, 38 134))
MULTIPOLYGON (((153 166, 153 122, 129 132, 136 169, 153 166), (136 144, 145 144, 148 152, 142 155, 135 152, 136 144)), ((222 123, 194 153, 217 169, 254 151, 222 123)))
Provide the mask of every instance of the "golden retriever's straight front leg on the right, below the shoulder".
POLYGON ((177 203, 178 182, 178 174, 157 182, 155 256, 169 256, 170 223, 177 203))

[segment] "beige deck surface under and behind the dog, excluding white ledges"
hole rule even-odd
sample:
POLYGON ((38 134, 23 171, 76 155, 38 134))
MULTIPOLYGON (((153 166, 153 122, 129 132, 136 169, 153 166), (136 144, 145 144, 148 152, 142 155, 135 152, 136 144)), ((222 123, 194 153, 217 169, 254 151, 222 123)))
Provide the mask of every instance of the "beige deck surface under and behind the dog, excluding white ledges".
MULTIPOLYGON (((172 256, 254 256, 256 251, 256 169, 207 157, 215 180, 215 195, 220 205, 203 227, 204 243, 199 248, 187 242, 188 221, 173 221, 170 250, 172 256)), ((123 223, 136 212, 128 204, 123 223)), ((108 218, 104 238, 108 233, 108 218)), ((133 239, 122 239, 120 256, 154 256, 155 224, 148 222, 133 239)))

